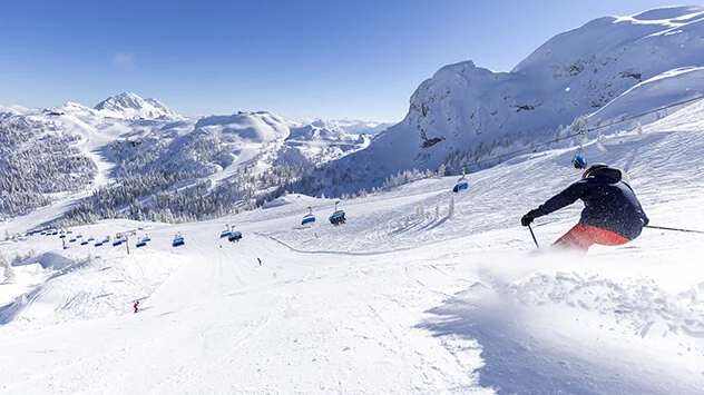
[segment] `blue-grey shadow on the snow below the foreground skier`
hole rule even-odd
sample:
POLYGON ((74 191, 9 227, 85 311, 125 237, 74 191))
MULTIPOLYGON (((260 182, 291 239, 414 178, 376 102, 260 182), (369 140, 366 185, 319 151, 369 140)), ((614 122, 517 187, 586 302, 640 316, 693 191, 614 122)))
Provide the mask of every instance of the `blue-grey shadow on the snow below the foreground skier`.
MULTIPOLYGON (((667 393, 666 387, 654 388, 653 383, 641 382, 608 366, 608 362, 585 359, 570 353, 569 347, 537 339, 515 312, 487 308, 479 303, 457 297, 447 299, 427 310, 433 317, 417 328, 439 337, 458 361, 462 358, 459 353, 476 352, 469 344, 478 342, 483 366, 467 374, 478 375, 482 387, 498 394, 667 393), (454 346, 454 342, 461 345, 454 346)), ((587 347, 580 348, 584 352, 587 347)))

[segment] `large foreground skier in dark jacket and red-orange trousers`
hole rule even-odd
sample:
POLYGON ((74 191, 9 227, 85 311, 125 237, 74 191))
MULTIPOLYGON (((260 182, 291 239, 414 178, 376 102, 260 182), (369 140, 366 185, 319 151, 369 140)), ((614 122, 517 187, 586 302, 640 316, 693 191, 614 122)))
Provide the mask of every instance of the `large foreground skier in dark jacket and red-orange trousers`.
POLYGON ((557 239, 554 247, 586 253, 595 244, 619 246, 641 235, 648 218, 630 188, 628 176, 605 164, 595 164, 581 179, 555 195, 521 219, 528 226, 534 219, 559 210, 581 199, 584 210, 579 224, 557 239))

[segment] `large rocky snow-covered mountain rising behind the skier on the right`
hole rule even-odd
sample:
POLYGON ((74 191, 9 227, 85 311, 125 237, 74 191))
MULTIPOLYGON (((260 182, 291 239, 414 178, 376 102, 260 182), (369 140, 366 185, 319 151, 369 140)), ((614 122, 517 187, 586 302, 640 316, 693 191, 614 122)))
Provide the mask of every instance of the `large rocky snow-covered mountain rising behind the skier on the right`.
POLYGON ((591 115, 594 126, 702 95, 700 67, 702 7, 599 18, 548 40, 510 72, 473 61, 441 68, 411 96, 400 124, 326 171, 349 174, 350 185, 339 186, 349 190, 443 162, 458 172, 460 166, 549 141, 560 125, 580 116, 591 115))

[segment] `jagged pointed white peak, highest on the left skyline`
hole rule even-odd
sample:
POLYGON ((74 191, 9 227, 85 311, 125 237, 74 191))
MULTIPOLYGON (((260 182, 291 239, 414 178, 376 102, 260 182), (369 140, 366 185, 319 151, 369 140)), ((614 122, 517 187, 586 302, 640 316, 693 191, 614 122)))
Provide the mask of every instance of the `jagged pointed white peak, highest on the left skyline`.
POLYGON ((133 92, 124 92, 111 96, 94 108, 104 117, 125 118, 125 119, 180 119, 182 117, 174 112, 160 101, 147 98, 143 99, 133 92))

